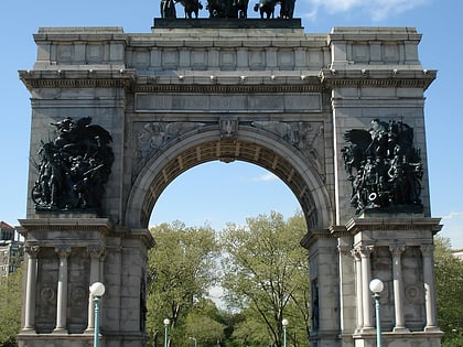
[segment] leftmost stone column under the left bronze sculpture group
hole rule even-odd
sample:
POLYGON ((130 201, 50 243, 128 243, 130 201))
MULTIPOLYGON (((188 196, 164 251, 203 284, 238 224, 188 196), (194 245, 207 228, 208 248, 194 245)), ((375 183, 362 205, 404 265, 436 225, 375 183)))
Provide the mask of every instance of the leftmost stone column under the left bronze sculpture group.
POLYGON ((35 291, 39 246, 28 246, 28 279, 25 283, 24 326, 22 332, 35 333, 35 291))

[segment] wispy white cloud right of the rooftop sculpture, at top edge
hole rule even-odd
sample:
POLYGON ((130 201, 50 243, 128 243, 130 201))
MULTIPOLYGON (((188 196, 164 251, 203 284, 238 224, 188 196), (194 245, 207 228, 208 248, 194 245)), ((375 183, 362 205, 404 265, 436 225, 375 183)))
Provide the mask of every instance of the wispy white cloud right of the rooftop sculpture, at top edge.
POLYGON ((312 8, 304 18, 314 18, 317 9, 323 9, 329 14, 358 11, 370 17, 375 22, 386 20, 394 14, 410 11, 427 3, 429 0, 303 0, 312 8))

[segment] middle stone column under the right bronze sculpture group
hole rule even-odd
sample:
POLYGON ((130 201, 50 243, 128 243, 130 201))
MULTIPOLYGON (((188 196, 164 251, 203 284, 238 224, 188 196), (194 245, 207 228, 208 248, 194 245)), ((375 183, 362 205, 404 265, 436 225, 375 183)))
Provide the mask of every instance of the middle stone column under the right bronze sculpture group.
POLYGON ((389 251, 392 254, 392 284, 394 284, 394 310, 396 316, 396 326, 394 332, 403 333, 409 332, 405 326, 403 318, 403 288, 402 288, 402 264, 400 256, 405 251, 405 245, 389 246, 389 251))

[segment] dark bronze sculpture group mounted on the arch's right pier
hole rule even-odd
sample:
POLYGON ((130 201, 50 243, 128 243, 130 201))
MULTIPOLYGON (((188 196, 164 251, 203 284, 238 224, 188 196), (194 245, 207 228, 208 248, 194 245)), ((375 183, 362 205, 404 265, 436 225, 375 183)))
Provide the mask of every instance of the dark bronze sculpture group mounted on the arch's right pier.
POLYGON ((401 121, 372 121, 368 130, 353 129, 344 134, 342 149, 351 203, 357 214, 365 209, 422 208, 420 151, 413 148, 413 129, 401 121))

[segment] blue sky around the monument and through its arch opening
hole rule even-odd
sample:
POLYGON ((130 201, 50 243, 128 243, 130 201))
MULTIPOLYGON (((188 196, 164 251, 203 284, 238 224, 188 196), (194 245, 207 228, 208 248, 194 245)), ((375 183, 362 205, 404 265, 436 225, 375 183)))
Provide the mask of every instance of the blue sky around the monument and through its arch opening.
MULTIPOLYGON (((7 2, 7 1, 6 1, 7 2)), ((205 0, 203 0, 205 2, 205 0)), ((249 7, 249 17, 256 17, 249 7)), ((159 18, 154 1, 8 1, 0 12, 0 220, 18 225, 25 218, 30 139, 30 94, 18 78, 32 68, 41 26, 122 26, 126 33, 149 33, 159 18)), ((183 9, 177 4, 177 14, 183 9)), ((306 33, 333 26, 413 26, 423 34, 419 46, 423 68, 438 69, 426 91, 426 126, 432 216, 442 217, 441 235, 463 248, 463 40, 461 0, 297 0, 294 17, 306 33), (445 3, 445 6, 443 6, 445 3)), ((206 18, 205 10, 200 17, 206 18)), ((299 208, 292 193, 267 171, 241 162, 213 162, 177 177, 161 195, 152 223, 180 219, 187 225, 225 223, 270 210, 291 216, 299 208)))

